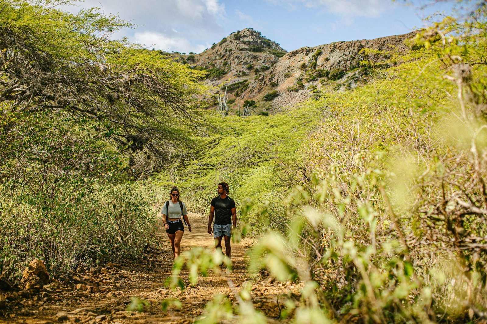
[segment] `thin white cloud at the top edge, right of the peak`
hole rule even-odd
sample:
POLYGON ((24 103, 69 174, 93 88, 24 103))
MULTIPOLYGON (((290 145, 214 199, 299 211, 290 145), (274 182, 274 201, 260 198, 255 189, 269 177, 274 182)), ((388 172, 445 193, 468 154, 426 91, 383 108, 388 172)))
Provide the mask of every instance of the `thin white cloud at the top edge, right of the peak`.
POLYGON ((285 4, 292 9, 300 5, 308 8, 322 8, 343 17, 379 17, 392 6, 390 0, 267 0, 274 4, 285 4))

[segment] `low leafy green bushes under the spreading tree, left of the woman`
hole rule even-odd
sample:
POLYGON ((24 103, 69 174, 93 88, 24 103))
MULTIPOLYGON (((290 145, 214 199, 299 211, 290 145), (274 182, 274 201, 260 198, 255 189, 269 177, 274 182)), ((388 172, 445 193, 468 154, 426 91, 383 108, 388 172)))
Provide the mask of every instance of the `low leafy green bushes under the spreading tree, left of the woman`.
POLYGON ((153 242, 156 212, 143 190, 126 184, 96 195, 59 191, 52 200, 24 196, 0 203, 0 236, 7 243, 0 270, 19 277, 38 257, 58 276, 80 264, 138 258, 153 242))

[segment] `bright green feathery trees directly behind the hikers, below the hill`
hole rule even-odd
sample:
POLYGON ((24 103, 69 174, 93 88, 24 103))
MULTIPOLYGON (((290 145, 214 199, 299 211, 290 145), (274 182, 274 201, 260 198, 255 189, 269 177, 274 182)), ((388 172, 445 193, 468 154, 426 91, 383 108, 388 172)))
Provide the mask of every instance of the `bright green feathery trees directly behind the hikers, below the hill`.
MULTIPOLYGON (((229 116, 212 120, 217 125, 216 131, 209 129, 204 133, 207 136, 202 138, 204 142, 199 151, 191 153, 192 158, 186 165, 175 163, 171 167, 178 174, 175 182, 188 208, 208 212, 218 183, 227 181, 230 196, 239 210, 247 199, 254 203, 250 213, 239 211, 240 220, 248 223, 253 233, 269 227, 285 230, 287 217, 281 200, 286 196, 285 188, 293 186, 301 176, 299 148, 302 138, 316 125, 314 111, 317 107, 316 102, 309 102, 265 118, 229 116), (282 170, 287 173, 281 173, 282 170)), ((164 187, 172 183, 165 173, 160 173, 153 181, 164 187)))

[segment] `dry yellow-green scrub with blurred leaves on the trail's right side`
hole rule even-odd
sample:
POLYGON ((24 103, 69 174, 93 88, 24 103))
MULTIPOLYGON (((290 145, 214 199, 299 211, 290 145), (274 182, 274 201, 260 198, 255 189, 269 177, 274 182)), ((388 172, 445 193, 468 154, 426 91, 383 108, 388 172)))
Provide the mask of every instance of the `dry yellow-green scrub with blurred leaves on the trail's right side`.
MULTIPOLYGON (((242 209, 254 230, 265 229, 262 222, 279 229, 266 231, 250 269, 304 283, 300 296, 283 302, 282 317, 484 321, 486 14, 480 4, 466 20, 446 17, 418 34, 409 55, 391 56, 401 64, 371 84, 308 103, 320 125, 307 129, 291 158, 267 164, 282 180, 274 188, 286 188, 286 181, 298 186, 284 204, 262 204, 258 195, 242 209)), ((235 196, 252 180, 234 181, 235 196)), ((268 185, 260 183, 257 192, 268 185)), ((208 316, 265 321, 249 292, 241 296, 239 307, 226 312, 215 300, 208 316)))

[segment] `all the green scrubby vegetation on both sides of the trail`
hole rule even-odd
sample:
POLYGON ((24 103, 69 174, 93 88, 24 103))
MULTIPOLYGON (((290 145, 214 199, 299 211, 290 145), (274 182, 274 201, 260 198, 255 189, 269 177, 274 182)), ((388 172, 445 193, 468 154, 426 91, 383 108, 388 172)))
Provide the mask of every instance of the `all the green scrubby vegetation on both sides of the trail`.
MULTIPOLYGON (((0 21, 0 273, 18 277, 34 256, 54 274, 137 257, 161 190, 177 184, 206 212, 226 181, 244 223, 235 237, 261 237, 249 271, 303 285, 281 296, 281 319, 487 319, 485 2, 420 31, 409 53, 384 55, 369 84, 198 124, 204 73, 110 40, 125 24, 115 17, 14 1, 0 21)), ((320 54, 306 78, 341 79, 313 68, 320 54)), ((303 88, 298 78, 288 90, 303 88)), ((191 283, 221 262, 185 253, 172 281, 181 288, 185 261, 191 283)), ((246 287, 235 296, 235 307, 215 296, 206 319, 266 322, 246 287)))

